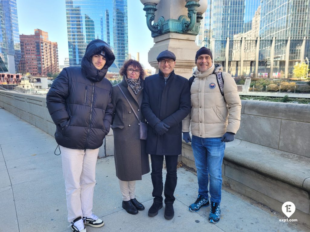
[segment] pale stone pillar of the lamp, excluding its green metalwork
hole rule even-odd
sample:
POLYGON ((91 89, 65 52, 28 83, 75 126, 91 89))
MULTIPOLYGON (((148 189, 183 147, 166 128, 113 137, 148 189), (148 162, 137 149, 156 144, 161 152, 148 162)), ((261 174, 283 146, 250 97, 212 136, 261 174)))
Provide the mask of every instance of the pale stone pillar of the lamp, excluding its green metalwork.
MULTIPOLYGON (((154 22, 162 16, 167 19, 179 19, 180 15, 187 15, 184 0, 162 0, 157 4, 154 22)), ((150 33, 150 32, 149 32, 150 33)), ((148 52, 149 64, 156 68, 158 73, 158 62, 156 57, 164 50, 173 52, 176 56, 175 73, 190 78, 195 64, 195 55, 200 48, 196 42, 196 36, 169 32, 154 38, 154 46, 148 52)))

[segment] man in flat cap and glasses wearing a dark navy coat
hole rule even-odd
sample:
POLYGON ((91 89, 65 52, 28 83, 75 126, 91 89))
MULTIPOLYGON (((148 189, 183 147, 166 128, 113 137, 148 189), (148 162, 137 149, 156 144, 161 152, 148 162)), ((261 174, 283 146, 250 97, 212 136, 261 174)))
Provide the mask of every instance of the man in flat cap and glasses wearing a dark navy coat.
POLYGON ((174 191, 178 156, 182 149, 182 120, 191 109, 188 80, 174 73, 175 54, 165 50, 157 56, 159 72, 144 80, 142 113, 148 122, 146 152, 151 155, 153 205, 148 216, 162 208, 162 164, 166 160, 165 218, 174 216, 174 191))

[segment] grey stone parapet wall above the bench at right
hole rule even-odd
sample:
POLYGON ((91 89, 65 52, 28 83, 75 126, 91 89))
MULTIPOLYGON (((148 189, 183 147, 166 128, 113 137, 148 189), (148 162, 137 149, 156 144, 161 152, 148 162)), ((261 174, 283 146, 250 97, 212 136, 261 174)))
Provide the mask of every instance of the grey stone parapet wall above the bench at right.
POLYGON ((310 157, 310 105, 242 100, 237 139, 310 157))

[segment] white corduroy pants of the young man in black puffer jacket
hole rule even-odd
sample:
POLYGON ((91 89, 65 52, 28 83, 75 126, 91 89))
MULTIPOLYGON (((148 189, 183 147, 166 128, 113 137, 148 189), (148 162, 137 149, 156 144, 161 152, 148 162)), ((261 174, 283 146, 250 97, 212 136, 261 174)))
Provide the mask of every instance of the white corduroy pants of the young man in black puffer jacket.
POLYGON ((60 147, 68 209, 68 221, 92 214, 96 184, 97 149, 71 149, 60 147))

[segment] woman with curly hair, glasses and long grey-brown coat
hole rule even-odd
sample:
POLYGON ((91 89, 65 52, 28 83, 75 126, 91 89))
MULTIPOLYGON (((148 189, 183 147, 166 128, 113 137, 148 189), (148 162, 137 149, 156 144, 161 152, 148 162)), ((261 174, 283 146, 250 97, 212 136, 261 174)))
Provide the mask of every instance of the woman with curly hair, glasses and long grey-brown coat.
MULTIPOLYGON (((118 84, 131 103, 140 121, 144 122, 141 112, 143 98, 144 70, 136 60, 124 63, 119 73, 123 80, 118 84)), ((130 214, 144 210, 143 204, 135 199, 135 182, 150 171, 145 141, 140 140, 139 121, 131 110, 123 93, 117 85, 112 87, 112 104, 114 106, 113 129, 114 160, 116 176, 122 192, 122 207, 130 214)))

